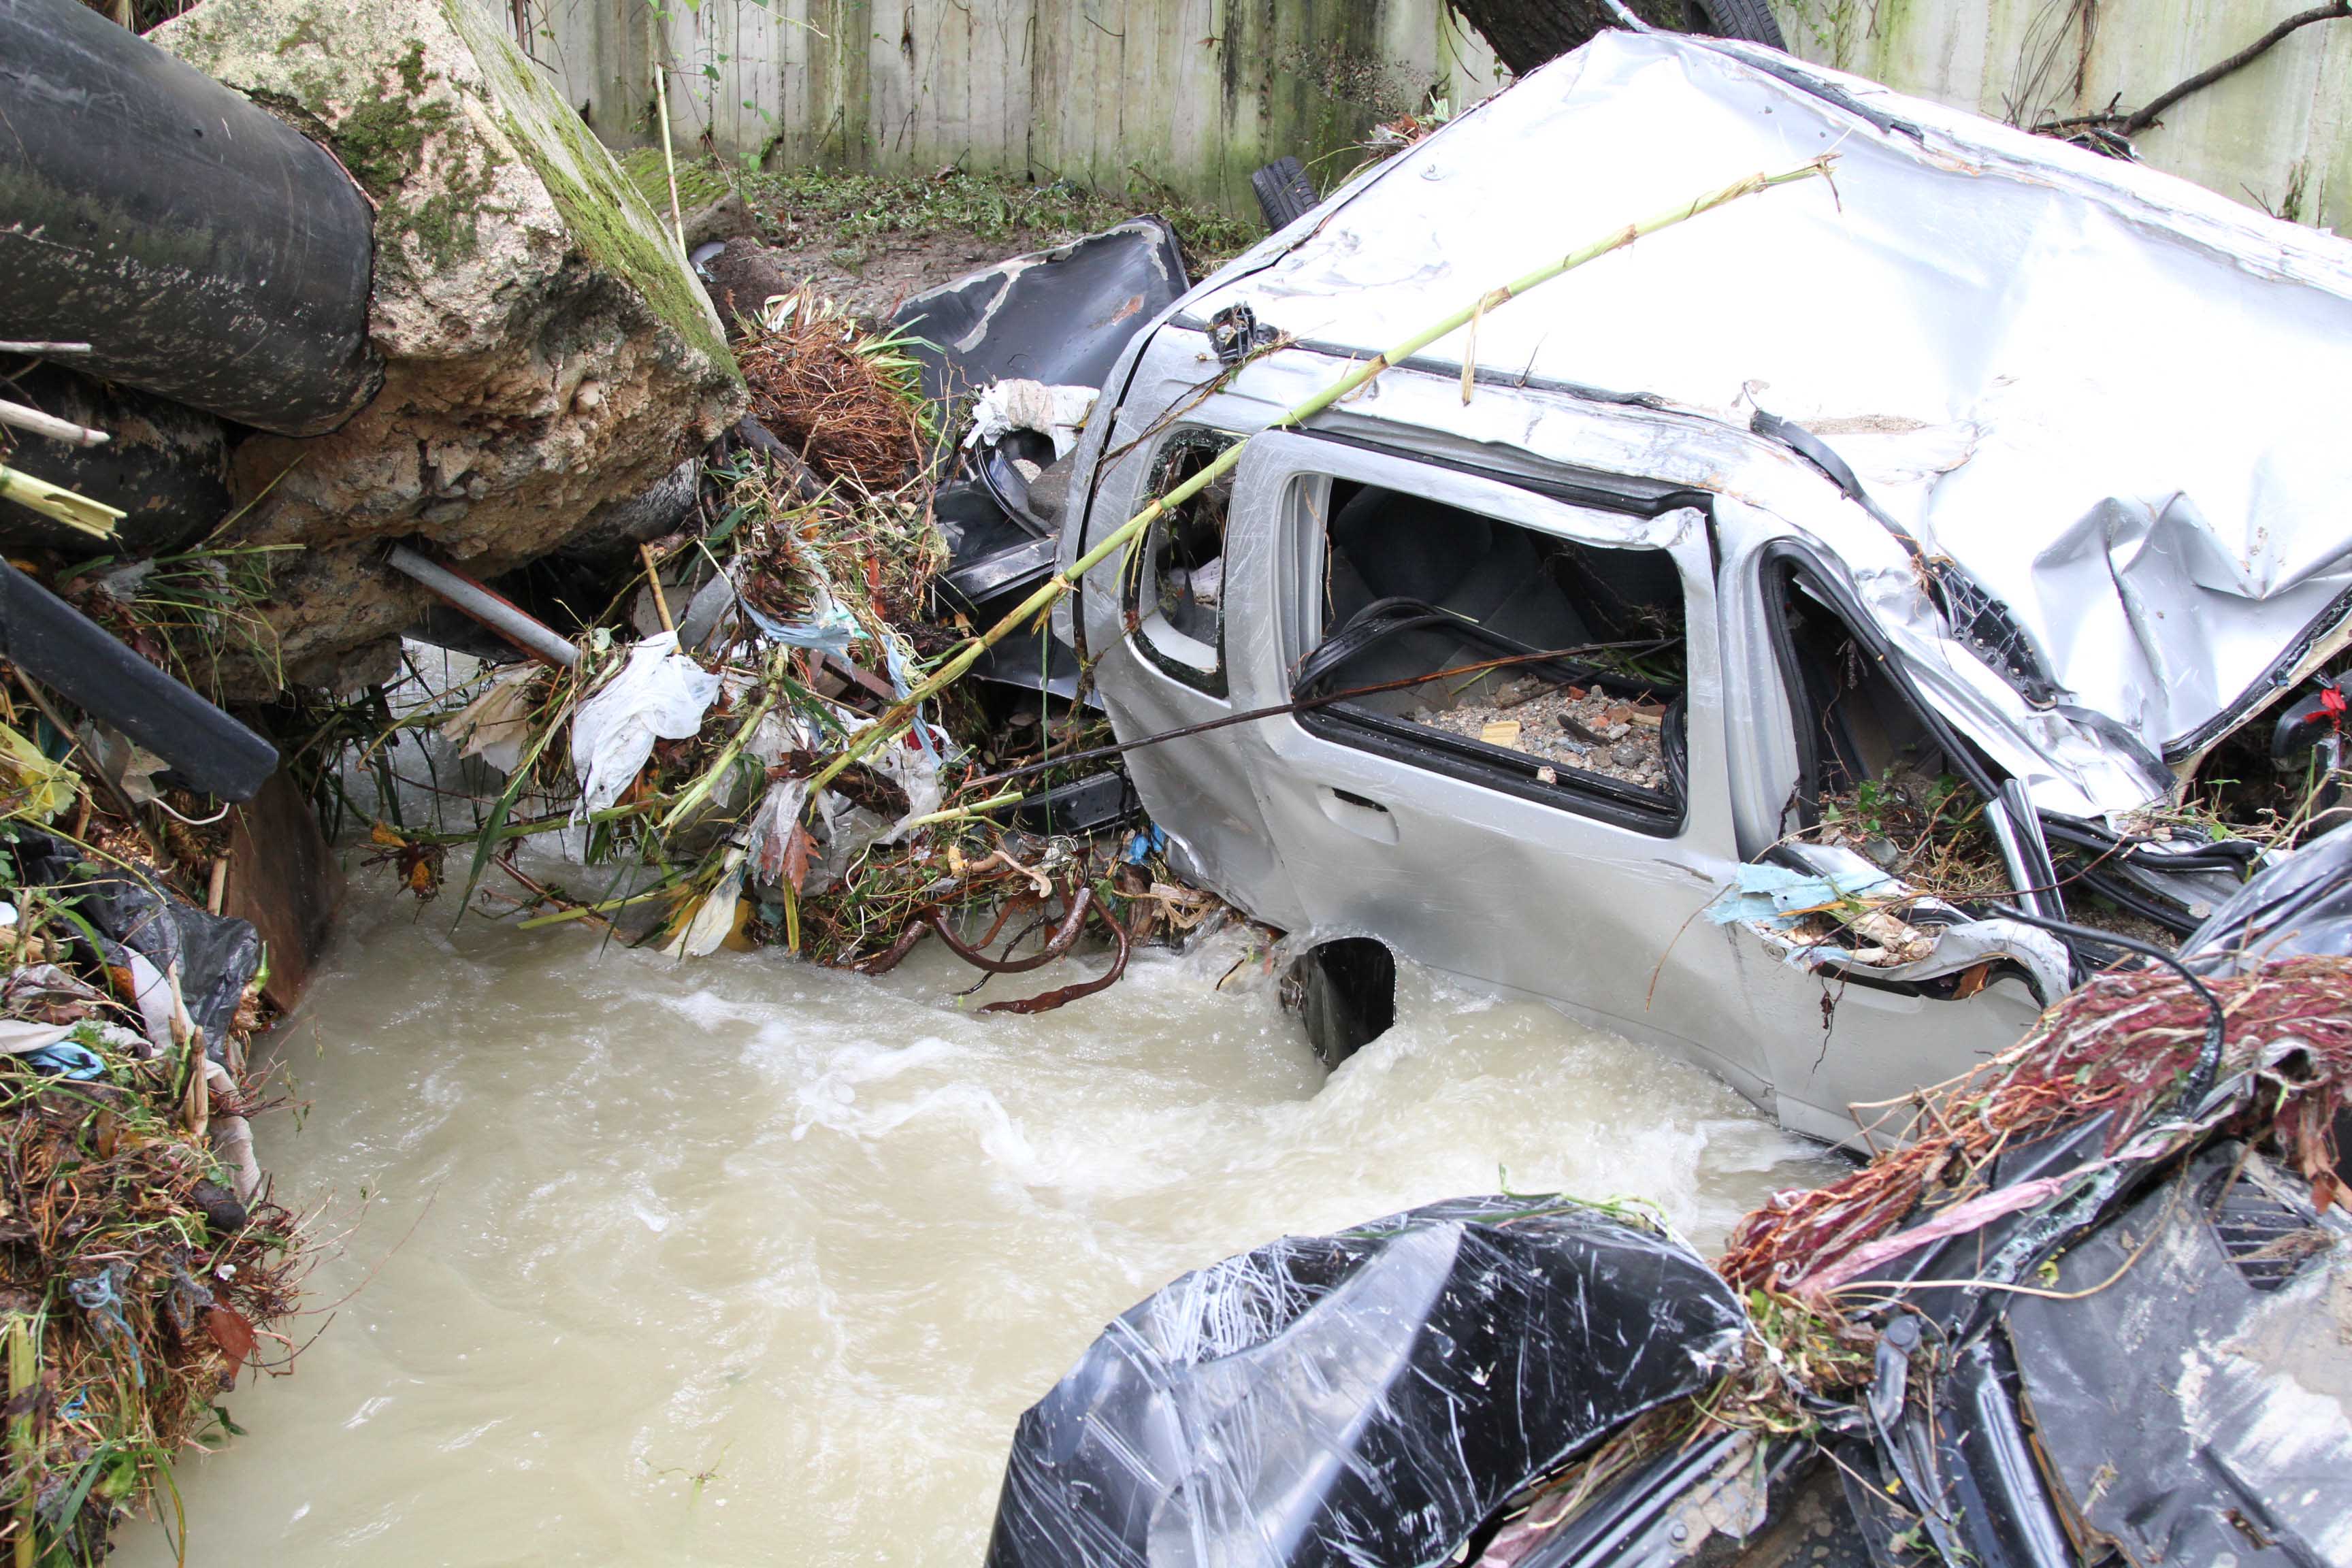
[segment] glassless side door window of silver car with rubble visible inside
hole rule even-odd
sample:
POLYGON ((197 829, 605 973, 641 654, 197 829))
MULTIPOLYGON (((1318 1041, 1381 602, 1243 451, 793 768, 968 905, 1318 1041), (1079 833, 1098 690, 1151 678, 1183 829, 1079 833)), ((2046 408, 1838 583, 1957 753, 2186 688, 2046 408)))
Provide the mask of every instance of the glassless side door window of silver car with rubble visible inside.
MULTIPOLYGON (((1324 642, 1296 696, 1456 769, 1679 818, 1682 578, 1665 550, 1588 545, 1425 496, 1334 482, 1324 642), (1559 651, 1559 658, 1531 658, 1559 651)), ((1312 715, 1310 715, 1312 717, 1312 715)))

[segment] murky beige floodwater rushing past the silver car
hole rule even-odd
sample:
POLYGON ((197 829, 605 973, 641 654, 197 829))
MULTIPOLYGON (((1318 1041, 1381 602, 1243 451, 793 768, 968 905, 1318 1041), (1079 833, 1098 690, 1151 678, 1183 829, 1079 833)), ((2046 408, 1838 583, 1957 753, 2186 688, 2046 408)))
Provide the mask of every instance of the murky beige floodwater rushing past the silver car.
POLYGON ((348 1232, 341 1305, 181 1465, 193 1563, 976 1568, 1014 1420, 1185 1269, 1503 1180, 1712 1248, 1835 1168, 1696 1070, 1414 971, 1327 1079, 1261 971, 1218 990, 1232 933, 978 1018, 941 954, 680 966, 372 879, 273 1046, 308 1110, 261 1126, 348 1232))

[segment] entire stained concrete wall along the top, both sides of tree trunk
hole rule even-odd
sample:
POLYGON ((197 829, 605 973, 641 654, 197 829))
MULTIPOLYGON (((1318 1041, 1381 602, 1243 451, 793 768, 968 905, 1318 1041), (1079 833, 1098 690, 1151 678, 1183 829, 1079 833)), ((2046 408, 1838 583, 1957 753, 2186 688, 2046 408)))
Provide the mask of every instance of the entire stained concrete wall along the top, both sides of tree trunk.
MULTIPOLYGON (((1258 165, 1296 153, 1329 186, 1371 125, 1498 85, 1442 0, 522 2, 534 54, 614 143, 654 132, 659 33, 684 148, 1174 188, 1244 214, 1258 165)), ((2136 108, 2305 5, 1773 0, 1797 54, 2020 125, 2136 108)), ((2352 216, 2347 110, 2352 21, 2319 24, 2185 99, 2140 150, 2336 223, 2352 216)))

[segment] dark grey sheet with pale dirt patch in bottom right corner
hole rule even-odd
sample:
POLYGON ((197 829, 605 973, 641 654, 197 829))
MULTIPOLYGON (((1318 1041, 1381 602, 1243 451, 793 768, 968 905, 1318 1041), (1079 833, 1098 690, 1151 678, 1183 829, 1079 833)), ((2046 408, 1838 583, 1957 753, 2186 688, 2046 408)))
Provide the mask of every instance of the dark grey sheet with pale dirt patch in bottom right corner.
POLYGON ((2072 1516, 2131 1563, 2352 1561, 2352 1225, 2307 1182, 2206 1150, 2053 1284, 2006 1328, 2072 1516))

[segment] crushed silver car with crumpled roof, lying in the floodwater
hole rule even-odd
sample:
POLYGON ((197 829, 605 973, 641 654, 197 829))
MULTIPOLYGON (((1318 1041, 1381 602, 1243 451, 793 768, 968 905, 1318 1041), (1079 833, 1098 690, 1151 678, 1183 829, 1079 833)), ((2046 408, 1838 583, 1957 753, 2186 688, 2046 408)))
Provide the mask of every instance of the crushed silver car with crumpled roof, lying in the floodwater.
POLYGON ((1606 33, 1129 343, 1065 567, 1256 440, 1056 630, 1122 743, 1282 710, 1129 766, 1207 886, 1329 959, 1329 1056, 1395 952, 1844 1140, 2336 818, 2345 386, 2331 235, 1606 33), (1258 435, 1548 256, 1823 153, 1258 435))

